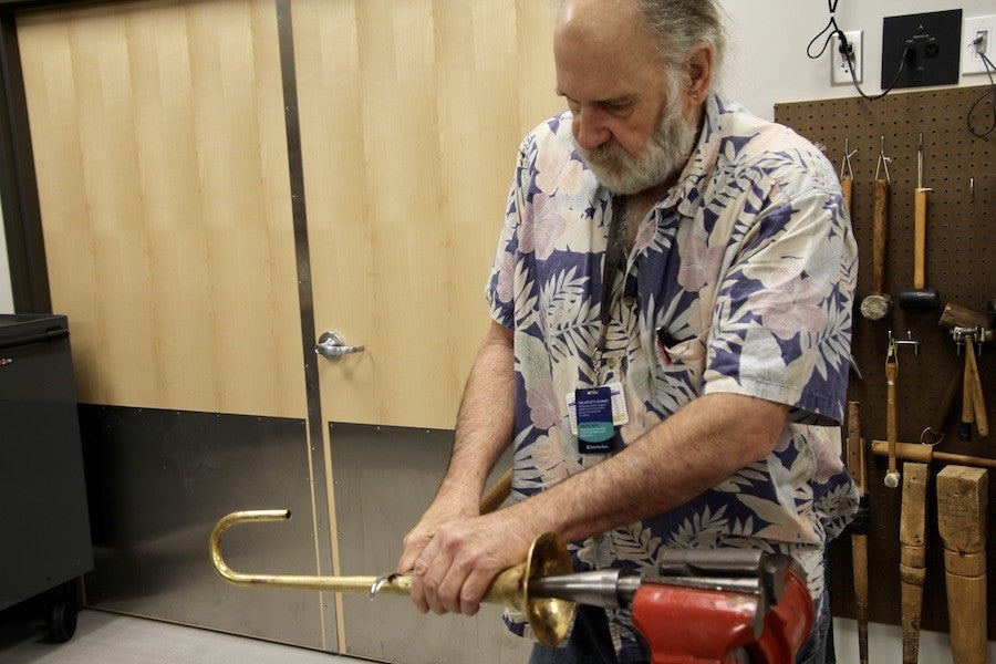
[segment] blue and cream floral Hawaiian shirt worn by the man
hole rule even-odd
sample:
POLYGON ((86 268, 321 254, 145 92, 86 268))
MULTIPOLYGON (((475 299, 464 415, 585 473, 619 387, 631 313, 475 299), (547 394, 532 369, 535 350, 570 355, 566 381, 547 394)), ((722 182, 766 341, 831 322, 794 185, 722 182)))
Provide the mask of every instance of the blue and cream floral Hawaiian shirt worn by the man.
MULTIPOLYGON (((612 198, 575 152, 569 112, 522 142, 487 287, 491 315, 515 334, 513 499, 605 458, 579 453, 566 401, 575 388, 622 383, 629 422, 616 449, 703 394, 787 404, 767 458, 570 549, 577 569, 647 575, 668 548, 779 551, 802 566, 819 602, 823 546, 857 510, 839 425, 858 255, 832 166, 787 127, 710 96, 677 184, 620 261, 595 362, 612 198)), ((507 620, 521 634, 520 618, 507 620)), ((630 661, 630 616, 609 619, 620 662, 630 661)))

